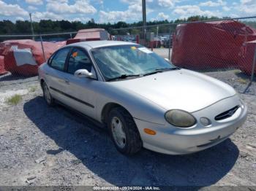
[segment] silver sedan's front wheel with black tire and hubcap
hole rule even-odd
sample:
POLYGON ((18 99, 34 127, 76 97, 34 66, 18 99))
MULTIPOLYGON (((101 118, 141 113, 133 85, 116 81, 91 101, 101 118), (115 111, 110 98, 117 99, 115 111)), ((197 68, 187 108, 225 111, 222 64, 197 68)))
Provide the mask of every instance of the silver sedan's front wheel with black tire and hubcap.
POLYGON ((142 148, 140 133, 135 121, 124 108, 116 107, 110 111, 108 116, 108 130, 116 149, 122 154, 134 155, 142 148), (116 127, 118 124, 121 124, 121 128, 116 127), (115 133, 115 130, 117 133, 115 133), (116 134, 119 134, 119 136, 116 136, 116 134), (121 134, 122 136, 120 136, 121 134))

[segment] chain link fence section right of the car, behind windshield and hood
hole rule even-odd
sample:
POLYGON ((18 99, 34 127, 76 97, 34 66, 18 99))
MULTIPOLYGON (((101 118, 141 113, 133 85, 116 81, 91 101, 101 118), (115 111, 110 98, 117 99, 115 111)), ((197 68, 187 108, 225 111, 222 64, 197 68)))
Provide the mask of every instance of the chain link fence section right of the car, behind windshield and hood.
POLYGON ((151 48, 185 69, 237 69, 251 80, 256 72, 256 17, 119 28, 111 34, 116 40, 151 48))

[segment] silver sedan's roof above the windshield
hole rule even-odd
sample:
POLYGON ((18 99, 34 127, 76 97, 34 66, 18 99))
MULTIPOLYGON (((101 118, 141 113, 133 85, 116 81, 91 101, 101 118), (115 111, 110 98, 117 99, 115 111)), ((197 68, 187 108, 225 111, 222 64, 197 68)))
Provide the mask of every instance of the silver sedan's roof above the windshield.
POLYGON ((116 46, 116 45, 134 45, 135 43, 132 42, 123 42, 123 41, 86 41, 86 42, 77 42, 73 44, 67 45, 67 47, 88 47, 97 48, 97 47, 108 47, 108 46, 116 46))

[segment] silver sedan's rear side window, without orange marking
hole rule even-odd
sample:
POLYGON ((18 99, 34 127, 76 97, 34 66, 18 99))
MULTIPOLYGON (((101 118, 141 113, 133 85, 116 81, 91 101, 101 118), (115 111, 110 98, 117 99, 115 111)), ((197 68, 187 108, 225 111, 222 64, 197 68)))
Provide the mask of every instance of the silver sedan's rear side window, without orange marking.
POLYGON ((51 59, 50 66, 52 66, 54 69, 64 71, 65 61, 69 53, 69 50, 70 50, 69 48, 64 48, 62 50, 59 50, 56 53, 56 55, 54 55, 53 58, 51 59))

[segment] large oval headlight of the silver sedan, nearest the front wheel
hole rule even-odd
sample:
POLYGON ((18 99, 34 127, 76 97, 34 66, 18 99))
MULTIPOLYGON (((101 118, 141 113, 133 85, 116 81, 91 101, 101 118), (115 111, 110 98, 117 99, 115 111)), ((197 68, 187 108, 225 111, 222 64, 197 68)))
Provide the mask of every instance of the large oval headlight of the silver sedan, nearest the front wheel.
POLYGON ((165 120, 167 120, 171 125, 179 128, 189 128, 197 122, 192 114, 179 109, 173 109, 166 112, 165 120))

